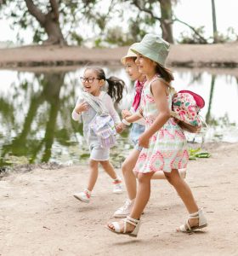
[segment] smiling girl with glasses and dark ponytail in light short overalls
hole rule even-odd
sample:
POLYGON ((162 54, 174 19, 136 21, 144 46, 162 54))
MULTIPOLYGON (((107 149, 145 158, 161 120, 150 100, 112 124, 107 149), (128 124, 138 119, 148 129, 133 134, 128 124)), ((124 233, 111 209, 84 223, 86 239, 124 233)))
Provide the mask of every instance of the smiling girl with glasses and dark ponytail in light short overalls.
MULTIPOLYGON (((117 79, 116 77, 106 79, 105 72, 100 67, 87 67, 84 71, 83 77, 80 79, 82 81, 83 90, 103 102, 116 125, 121 123, 120 117, 114 108, 112 99, 115 101, 116 105, 122 100, 122 91, 125 85, 122 79, 117 79), (107 92, 101 90, 105 85, 105 82, 108 84, 107 92)), ((101 148, 99 140, 93 131, 90 131, 90 136, 88 136, 89 123, 94 119, 95 115, 96 112, 94 108, 79 96, 76 106, 72 112, 72 119, 78 121, 82 117, 83 135, 88 141, 90 151, 89 179, 87 189, 84 189, 82 192, 75 193, 73 196, 77 198, 77 200, 86 203, 90 201, 91 192, 97 181, 99 164, 113 180, 113 193, 122 193, 122 180, 116 175, 116 172, 109 161, 110 149, 101 148)), ((119 130, 120 128, 116 128, 117 132, 120 132, 119 130)))

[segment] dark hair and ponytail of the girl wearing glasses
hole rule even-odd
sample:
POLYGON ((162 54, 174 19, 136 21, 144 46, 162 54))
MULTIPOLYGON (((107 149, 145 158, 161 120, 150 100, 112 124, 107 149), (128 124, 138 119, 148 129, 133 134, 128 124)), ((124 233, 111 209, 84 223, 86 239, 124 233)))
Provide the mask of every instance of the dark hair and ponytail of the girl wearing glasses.
POLYGON ((115 105, 122 100, 122 92, 125 87, 125 82, 122 79, 118 79, 116 77, 111 76, 109 79, 105 78, 105 72, 100 67, 87 67, 87 69, 94 70, 98 75, 98 79, 103 79, 108 83, 107 93, 111 96, 111 98, 115 101, 115 105))

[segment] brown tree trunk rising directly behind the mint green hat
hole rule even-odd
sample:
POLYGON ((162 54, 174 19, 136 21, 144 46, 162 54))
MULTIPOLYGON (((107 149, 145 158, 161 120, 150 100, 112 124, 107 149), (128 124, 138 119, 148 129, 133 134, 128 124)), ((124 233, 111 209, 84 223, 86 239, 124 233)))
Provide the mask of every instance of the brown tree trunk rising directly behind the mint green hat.
POLYGON ((173 44, 172 4, 171 0, 159 0, 161 4, 162 38, 173 44))

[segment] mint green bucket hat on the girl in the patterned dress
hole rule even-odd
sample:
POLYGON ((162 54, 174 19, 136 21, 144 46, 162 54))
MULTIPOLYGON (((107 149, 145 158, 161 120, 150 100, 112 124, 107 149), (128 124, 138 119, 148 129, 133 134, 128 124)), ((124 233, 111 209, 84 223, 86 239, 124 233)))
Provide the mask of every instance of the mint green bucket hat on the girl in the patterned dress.
POLYGON ((144 55, 152 61, 156 61, 164 67, 169 46, 170 44, 167 41, 155 34, 146 34, 140 43, 132 45, 131 50, 144 55))

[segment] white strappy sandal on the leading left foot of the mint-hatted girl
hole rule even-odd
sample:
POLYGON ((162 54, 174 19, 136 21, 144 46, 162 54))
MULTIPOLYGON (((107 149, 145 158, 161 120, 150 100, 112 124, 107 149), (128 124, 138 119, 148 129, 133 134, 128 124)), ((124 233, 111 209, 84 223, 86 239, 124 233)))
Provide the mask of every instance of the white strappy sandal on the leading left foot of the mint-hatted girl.
POLYGON ((119 222, 112 222, 111 224, 114 227, 114 230, 111 229, 108 225, 106 225, 106 228, 110 230, 111 232, 116 233, 117 235, 127 235, 127 236, 133 236, 137 237, 139 232, 139 224, 140 220, 136 218, 131 218, 130 216, 127 216, 127 218, 122 219, 124 222, 123 224, 123 230, 121 231, 121 226, 119 222), (132 224, 134 226, 134 230, 132 232, 127 232, 127 223, 132 224))

